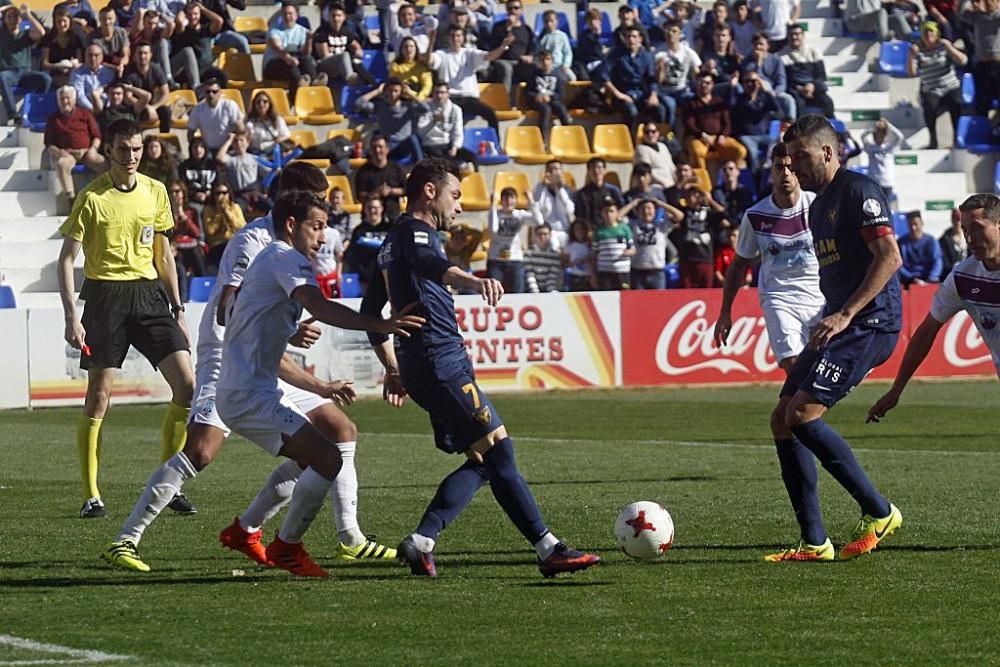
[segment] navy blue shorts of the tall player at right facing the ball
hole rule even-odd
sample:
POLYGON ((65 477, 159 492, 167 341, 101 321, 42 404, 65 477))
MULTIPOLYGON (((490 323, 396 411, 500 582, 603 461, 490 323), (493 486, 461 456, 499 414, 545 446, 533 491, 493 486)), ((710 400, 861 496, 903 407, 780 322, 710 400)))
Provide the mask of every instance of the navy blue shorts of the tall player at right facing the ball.
POLYGON ((898 338, 899 332, 851 325, 822 350, 803 350, 788 373, 781 395, 791 396, 801 389, 826 407, 833 407, 876 366, 885 363, 898 338))

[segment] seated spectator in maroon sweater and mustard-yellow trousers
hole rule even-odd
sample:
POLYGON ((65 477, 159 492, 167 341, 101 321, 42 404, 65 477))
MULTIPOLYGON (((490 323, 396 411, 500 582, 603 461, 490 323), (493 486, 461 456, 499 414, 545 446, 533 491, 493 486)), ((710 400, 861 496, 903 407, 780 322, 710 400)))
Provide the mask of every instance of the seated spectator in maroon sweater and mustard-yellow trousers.
POLYGON ((707 160, 746 159, 747 150, 732 137, 732 124, 726 102, 712 94, 715 80, 710 74, 698 75, 698 92, 684 104, 685 146, 697 169, 705 169, 707 160))

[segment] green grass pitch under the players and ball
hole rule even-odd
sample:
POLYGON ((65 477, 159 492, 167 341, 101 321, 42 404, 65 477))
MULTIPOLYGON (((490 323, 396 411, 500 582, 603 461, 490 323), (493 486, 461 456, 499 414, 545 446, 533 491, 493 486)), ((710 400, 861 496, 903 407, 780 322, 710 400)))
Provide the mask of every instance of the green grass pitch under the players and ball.
MULTIPOLYGON (((153 572, 113 570, 97 554, 159 463, 162 406, 112 407, 111 516, 94 521, 77 518, 78 411, 0 413, 0 665, 103 660, 12 638, 138 665, 995 664, 998 387, 915 384, 865 425, 884 387, 861 387, 829 421, 903 527, 830 564, 761 560, 797 538, 767 429, 774 387, 494 396, 553 532, 604 558, 555 580, 487 489, 439 541, 437 580, 333 562, 326 510, 306 544, 330 579, 258 570, 216 541, 274 465, 239 438, 185 487, 198 514, 167 511, 147 531, 153 572), (663 503, 676 523, 674 548, 651 564, 615 550, 614 519, 635 500, 663 503)), ((413 405, 365 400, 350 414, 362 528, 395 545, 459 459, 434 449, 413 405)), ((839 546, 857 508, 820 480, 839 546)))

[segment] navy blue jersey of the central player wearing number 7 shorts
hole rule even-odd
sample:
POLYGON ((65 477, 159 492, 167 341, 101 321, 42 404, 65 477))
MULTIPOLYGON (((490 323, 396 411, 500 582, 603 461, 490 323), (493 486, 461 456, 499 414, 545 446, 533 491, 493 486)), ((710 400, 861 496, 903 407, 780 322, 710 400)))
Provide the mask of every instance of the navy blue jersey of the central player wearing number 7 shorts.
MULTIPOLYGON (((379 275, 371 276, 361 312, 380 317, 387 301, 393 312, 419 303, 413 314, 427 320, 409 337, 396 337, 404 375, 415 377, 412 371, 422 367, 438 379, 448 379, 469 368, 465 342, 455 321, 455 298, 441 282, 451 267, 437 231, 406 214, 400 216, 379 250, 379 275), (411 372, 405 372, 404 366, 411 372)), ((387 337, 370 333, 368 339, 376 345, 387 337)))

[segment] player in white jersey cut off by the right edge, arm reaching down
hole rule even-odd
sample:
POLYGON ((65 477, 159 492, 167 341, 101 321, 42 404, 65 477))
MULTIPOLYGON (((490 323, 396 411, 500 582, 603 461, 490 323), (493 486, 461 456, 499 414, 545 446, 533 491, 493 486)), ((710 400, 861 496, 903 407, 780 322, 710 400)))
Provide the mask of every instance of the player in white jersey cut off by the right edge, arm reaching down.
POLYGON ((867 421, 877 422, 896 407, 941 327, 960 310, 976 323, 1000 377, 1000 197, 972 195, 958 210, 971 256, 956 264, 938 287, 930 312, 906 345, 892 388, 868 410, 867 421))

